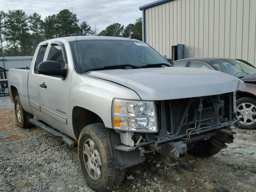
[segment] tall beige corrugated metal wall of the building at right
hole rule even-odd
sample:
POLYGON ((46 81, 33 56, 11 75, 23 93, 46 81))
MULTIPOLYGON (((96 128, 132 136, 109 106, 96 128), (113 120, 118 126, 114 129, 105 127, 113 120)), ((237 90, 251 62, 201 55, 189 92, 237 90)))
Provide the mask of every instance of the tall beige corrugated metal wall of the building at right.
POLYGON ((173 0, 145 10, 146 43, 171 57, 241 58, 256 65, 256 0, 173 0))

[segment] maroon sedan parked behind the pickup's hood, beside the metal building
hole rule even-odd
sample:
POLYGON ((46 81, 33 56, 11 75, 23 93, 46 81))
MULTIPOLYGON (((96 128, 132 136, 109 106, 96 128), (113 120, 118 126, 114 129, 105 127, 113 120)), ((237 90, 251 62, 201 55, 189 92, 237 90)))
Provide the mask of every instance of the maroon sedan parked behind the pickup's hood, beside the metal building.
POLYGON ((187 58, 174 61, 175 67, 218 70, 244 81, 245 90, 236 92, 236 112, 243 118, 239 128, 256 129, 256 68, 244 60, 227 58, 187 58))

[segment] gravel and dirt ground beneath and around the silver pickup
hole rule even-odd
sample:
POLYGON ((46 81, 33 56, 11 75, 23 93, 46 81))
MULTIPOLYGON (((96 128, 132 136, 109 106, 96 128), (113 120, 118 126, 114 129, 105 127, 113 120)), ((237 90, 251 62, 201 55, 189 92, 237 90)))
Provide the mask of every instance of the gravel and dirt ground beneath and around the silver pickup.
MULTIPOLYGON (((234 143, 211 158, 186 155, 176 166, 150 157, 129 168, 116 192, 256 192, 256 130, 240 130, 234 143), (238 154, 241 150, 243 154, 238 154), (191 164, 194 168, 185 168, 191 164)), ((14 105, 0 98, 0 192, 90 192, 77 149, 33 127, 16 126, 14 105)))

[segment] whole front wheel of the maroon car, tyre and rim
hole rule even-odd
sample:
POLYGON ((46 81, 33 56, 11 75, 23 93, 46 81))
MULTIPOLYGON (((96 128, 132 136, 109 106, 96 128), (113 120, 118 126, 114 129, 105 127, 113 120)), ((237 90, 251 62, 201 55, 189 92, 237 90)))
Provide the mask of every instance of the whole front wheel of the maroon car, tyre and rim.
POLYGON ((256 129, 256 99, 242 97, 236 100, 236 112, 243 116, 238 128, 256 129))

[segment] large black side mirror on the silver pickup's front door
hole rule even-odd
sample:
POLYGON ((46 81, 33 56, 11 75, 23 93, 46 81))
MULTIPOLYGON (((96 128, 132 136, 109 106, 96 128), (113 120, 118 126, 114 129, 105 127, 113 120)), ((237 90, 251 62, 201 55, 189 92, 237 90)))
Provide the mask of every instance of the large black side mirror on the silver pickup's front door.
POLYGON ((56 61, 43 61, 38 65, 38 72, 44 75, 62 76, 62 80, 65 80, 68 69, 61 68, 60 63, 56 61))

